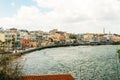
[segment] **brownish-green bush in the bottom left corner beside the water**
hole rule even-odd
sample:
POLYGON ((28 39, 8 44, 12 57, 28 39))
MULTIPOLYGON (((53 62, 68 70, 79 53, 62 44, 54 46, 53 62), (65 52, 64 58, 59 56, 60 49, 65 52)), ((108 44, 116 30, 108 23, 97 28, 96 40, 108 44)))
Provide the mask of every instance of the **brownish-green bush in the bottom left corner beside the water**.
POLYGON ((21 80, 19 63, 13 64, 12 58, 2 54, 0 57, 0 80, 21 80))

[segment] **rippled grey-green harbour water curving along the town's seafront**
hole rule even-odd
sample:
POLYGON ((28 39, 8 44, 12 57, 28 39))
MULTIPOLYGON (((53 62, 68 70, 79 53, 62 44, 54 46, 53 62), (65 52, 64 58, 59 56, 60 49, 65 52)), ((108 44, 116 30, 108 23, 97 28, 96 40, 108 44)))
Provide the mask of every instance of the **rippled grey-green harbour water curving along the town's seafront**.
POLYGON ((119 45, 44 49, 23 55, 27 74, 71 74, 75 80, 120 80, 119 45))

